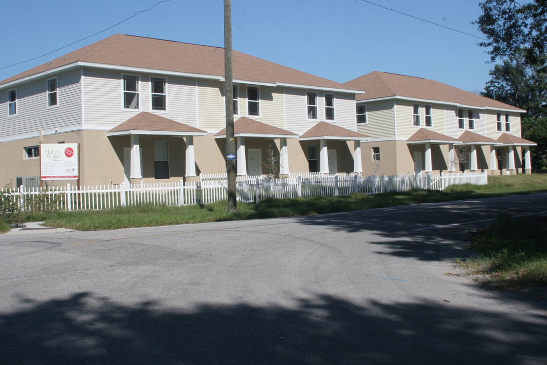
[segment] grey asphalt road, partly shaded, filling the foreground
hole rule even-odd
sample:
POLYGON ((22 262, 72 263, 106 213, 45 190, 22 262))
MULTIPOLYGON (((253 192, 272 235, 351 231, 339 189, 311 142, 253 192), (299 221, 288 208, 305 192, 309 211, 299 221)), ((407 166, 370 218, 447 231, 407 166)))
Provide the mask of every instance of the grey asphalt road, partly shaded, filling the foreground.
POLYGON ((0 364, 545 364, 545 298, 446 275, 469 229, 545 210, 534 194, 1 235, 0 364))

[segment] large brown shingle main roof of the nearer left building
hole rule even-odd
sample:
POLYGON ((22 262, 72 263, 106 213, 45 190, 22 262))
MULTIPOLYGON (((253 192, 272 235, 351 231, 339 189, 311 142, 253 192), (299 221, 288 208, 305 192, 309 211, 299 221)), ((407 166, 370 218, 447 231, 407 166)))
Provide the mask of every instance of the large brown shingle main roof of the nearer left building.
MULTIPOLYGON (((5 79, 0 82, 0 85, 77 61, 224 76, 224 48, 114 34, 5 79)), ((237 80, 352 89, 331 80, 237 51, 233 51, 232 61, 234 64, 233 78, 237 80)))

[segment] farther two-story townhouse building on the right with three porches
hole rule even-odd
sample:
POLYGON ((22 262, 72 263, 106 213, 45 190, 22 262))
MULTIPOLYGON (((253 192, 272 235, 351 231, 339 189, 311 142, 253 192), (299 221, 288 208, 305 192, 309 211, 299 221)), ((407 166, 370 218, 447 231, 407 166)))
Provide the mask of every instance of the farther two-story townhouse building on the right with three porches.
POLYGON ((356 96, 363 172, 531 172, 522 109, 434 80, 371 72, 344 85, 356 96))

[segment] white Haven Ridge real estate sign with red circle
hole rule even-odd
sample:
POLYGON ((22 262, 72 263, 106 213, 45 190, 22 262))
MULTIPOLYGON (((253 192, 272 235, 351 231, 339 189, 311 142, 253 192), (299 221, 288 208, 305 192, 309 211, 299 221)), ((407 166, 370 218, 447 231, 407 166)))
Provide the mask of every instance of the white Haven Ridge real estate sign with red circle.
POLYGON ((78 143, 40 144, 42 180, 78 179, 78 143))

